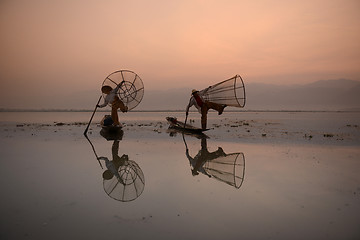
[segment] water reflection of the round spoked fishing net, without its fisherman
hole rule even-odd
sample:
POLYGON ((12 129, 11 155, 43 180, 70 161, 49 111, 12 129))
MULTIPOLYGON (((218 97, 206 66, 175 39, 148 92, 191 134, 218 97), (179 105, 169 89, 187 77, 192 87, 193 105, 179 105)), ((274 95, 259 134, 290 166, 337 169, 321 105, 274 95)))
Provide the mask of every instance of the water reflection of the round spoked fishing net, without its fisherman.
POLYGON ((114 176, 110 180, 103 181, 104 190, 111 198, 129 202, 138 198, 145 187, 144 174, 139 165, 131 160, 118 169, 119 179, 114 176))

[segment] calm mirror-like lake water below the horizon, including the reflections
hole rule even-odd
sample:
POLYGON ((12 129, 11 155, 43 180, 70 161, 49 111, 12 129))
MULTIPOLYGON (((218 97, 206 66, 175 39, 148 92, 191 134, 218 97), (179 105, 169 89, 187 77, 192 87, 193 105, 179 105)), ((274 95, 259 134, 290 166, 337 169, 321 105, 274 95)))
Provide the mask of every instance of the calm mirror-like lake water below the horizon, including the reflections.
POLYGON ((358 114, 336 118, 342 140, 321 141, 315 131, 334 123, 319 122, 326 113, 241 113, 255 120, 244 131, 230 126, 234 115, 224 116, 227 128, 212 116, 206 138, 169 132, 169 113, 142 114, 124 117, 120 139, 107 140, 97 117, 88 139, 86 125, 52 124, 86 123, 91 113, 1 113, 0 239, 359 238, 358 114), (281 137, 289 121, 305 125, 281 137), (129 184, 104 180, 107 166, 123 167, 129 184))

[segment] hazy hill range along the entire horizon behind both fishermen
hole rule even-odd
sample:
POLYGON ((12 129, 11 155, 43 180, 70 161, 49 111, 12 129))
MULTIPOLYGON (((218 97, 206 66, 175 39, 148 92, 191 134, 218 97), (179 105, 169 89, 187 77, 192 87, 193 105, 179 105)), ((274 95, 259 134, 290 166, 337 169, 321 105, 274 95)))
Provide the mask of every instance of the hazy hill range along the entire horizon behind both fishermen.
MULTIPOLYGON (((247 83, 244 109, 229 110, 360 110, 360 81, 322 80, 303 85, 247 83)), ((191 88, 147 90, 135 110, 181 110, 188 104, 191 88)), ((52 93, 51 101, 29 98, 22 103, 25 109, 93 110, 100 94, 98 90, 64 95, 52 93), (56 95, 57 94, 57 95, 56 95)), ((50 99, 50 96, 45 97, 50 99)), ((3 104, 7 108, 19 108, 3 104)))

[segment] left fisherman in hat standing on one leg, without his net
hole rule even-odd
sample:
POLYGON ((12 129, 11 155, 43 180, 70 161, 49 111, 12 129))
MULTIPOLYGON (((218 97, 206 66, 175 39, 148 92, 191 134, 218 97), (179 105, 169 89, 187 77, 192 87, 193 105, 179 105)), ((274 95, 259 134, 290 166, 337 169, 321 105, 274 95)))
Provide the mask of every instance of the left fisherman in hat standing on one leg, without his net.
POLYGON ((97 105, 97 107, 103 108, 106 105, 108 105, 109 103, 111 104, 111 118, 112 118, 115 126, 120 125, 117 110, 120 108, 120 110, 122 112, 128 111, 128 107, 125 106, 124 103, 117 96, 117 91, 119 90, 120 86, 121 86, 121 83, 119 85, 117 85, 117 87, 114 89, 107 85, 102 86, 101 92, 106 94, 106 97, 104 99, 103 104, 97 105))

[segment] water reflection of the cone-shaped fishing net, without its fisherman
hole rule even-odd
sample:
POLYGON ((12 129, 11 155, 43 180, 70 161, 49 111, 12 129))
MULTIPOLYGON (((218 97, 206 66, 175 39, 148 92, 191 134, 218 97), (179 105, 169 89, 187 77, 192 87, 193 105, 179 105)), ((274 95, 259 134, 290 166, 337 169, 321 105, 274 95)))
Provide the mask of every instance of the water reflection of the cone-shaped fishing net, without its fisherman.
POLYGON ((204 165, 205 171, 226 184, 240 188, 244 181, 245 157, 243 153, 231 153, 207 161, 204 165))

